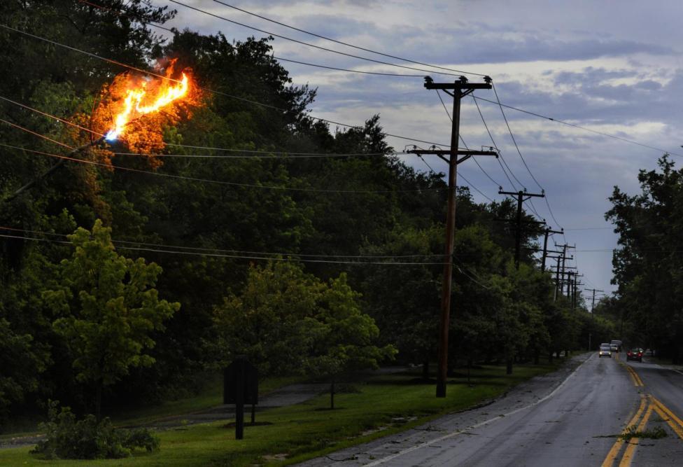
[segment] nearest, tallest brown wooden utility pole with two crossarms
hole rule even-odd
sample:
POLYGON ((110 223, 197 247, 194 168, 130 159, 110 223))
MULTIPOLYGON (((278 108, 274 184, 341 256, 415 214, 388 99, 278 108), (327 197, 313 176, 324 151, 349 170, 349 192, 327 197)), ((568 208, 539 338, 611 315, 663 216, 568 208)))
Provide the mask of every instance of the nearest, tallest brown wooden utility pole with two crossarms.
POLYGON ((491 89, 491 78, 484 76, 486 83, 469 83, 465 76, 460 76, 454 83, 434 83, 429 76, 425 76, 425 88, 428 90, 442 90, 453 97, 453 116, 451 127, 451 148, 447 151, 423 151, 414 149, 408 151, 413 154, 435 154, 449 164, 448 211, 446 213, 446 253, 444 255, 444 277, 441 291, 441 320, 439 322, 439 370, 437 372, 437 397, 446 397, 446 372, 448 370, 448 335, 451 314, 451 280, 453 276, 453 237, 456 232, 456 180, 458 164, 473 155, 495 155, 494 151, 459 151, 460 139, 460 100, 472 94, 477 89, 491 89), (463 158, 458 159, 458 155, 463 158), (448 156, 448 157, 446 157, 448 156))

